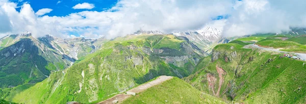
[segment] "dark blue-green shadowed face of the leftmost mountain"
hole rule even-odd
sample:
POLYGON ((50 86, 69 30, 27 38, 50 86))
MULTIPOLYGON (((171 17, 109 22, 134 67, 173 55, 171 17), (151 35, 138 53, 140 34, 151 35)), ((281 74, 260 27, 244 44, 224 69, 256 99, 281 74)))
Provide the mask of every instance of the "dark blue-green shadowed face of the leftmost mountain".
POLYGON ((40 82, 50 74, 48 61, 30 39, 22 39, 0 51, 0 87, 40 82))

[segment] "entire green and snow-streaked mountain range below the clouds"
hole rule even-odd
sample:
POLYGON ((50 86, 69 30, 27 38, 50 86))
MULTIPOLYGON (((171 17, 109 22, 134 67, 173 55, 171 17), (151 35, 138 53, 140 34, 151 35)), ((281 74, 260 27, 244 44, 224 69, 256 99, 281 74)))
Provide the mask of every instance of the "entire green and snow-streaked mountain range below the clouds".
POLYGON ((112 40, 12 34, 0 39, 0 96, 19 103, 98 103, 172 76, 122 103, 302 103, 303 62, 249 47, 306 53, 299 40, 305 33, 293 28, 225 38, 206 26, 173 33, 139 30, 112 40))

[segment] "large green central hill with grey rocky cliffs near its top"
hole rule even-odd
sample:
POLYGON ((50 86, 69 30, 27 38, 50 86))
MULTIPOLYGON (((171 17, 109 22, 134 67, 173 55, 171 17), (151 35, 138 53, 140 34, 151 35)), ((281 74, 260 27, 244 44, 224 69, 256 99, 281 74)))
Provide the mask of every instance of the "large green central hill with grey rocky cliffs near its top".
POLYGON ((35 103, 98 102, 160 75, 187 77, 203 53, 185 38, 173 35, 116 38, 63 73, 54 73, 61 77, 18 86, 6 99, 25 103, 30 103, 27 99, 38 99, 35 103), (28 93, 35 96, 24 99, 28 93))

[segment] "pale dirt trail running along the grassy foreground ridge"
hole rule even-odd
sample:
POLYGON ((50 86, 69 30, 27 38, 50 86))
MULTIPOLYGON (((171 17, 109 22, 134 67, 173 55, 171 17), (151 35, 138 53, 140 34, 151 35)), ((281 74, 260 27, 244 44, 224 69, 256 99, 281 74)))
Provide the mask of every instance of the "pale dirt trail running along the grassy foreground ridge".
MULTIPOLYGON (((171 76, 160 76, 159 78, 157 78, 156 80, 154 81, 151 81, 151 82, 148 82, 148 83, 145 83, 143 85, 140 85, 136 88, 133 88, 129 91, 126 91, 126 92, 134 92, 134 93, 139 93, 141 91, 144 91, 152 86, 155 86, 155 85, 158 85, 158 84, 161 84, 167 80, 170 80, 172 79, 173 77, 171 76)), ((104 101, 101 101, 101 102, 98 102, 98 104, 110 104, 110 103, 113 103, 114 100, 118 100, 118 103, 121 103, 123 100, 125 100, 126 98, 129 98, 131 97, 132 95, 130 94, 117 94, 115 95, 114 97, 112 98, 109 98, 107 100, 104 100, 104 101)))

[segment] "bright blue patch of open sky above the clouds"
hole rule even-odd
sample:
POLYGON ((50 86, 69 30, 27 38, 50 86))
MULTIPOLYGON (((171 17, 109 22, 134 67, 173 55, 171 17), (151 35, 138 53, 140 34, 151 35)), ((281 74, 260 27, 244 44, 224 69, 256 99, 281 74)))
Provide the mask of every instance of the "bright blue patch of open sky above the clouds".
MULTIPOLYGON (((66 16, 70 13, 77 13, 85 10, 98 12, 104 11, 105 9, 113 7, 117 3, 117 0, 23 0, 21 2, 20 0, 13 0, 12 2, 18 3, 17 6, 29 3, 35 12, 43 8, 53 9, 52 12, 46 14, 48 16, 66 16), (58 3, 59 1, 60 3, 58 3), (73 6, 82 3, 94 4, 95 8, 72 9, 73 6)), ((17 8, 16 10, 19 11, 20 8, 17 8)))

